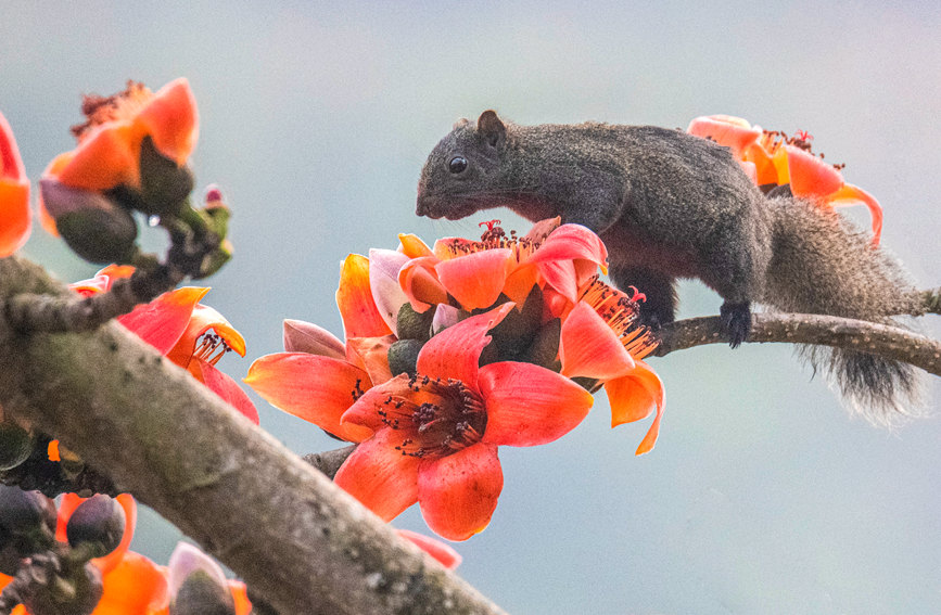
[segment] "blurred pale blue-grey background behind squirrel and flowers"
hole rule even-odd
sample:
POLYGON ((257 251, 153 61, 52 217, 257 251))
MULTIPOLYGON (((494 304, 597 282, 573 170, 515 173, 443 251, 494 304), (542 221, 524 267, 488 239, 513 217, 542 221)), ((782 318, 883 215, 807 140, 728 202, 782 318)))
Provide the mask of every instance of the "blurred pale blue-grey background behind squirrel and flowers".
MULTIPOLYGON (((233 208, 236 258, 211 304, 241 330, 243 376, 281 349, 281 320, 341 334, 349 252, 398 232, 476 233, 414 216, 425 155, 460 116, 685 127, 740 115, 815 136, 815 150, 886 210, 883 245, 941 284, 941 5, 924 2, 0 1, 0 110, 37 178, 73 146, 81 93, 128 78, 190 79, 193 166, 233 208)), ((868 225, 865 209, 848 212, 868 225)), ((506 228, 526 223, 506 212, 506 228)), ((153 240, 160 244, 161 239, 153 240)), ((37 229, 25 248, 89 277, 37 229)), ((682 315, 716 313, 698 282, 682 315)), ((939 335, 937 317, 924 326, 939 335)), ((493 523, 456 544, 460 574, 510 613, 941 612, 941 422, 895 431, 850 417, 785 345, 701 347, 651 361, 666 385, 660 443, 609 428, 603 396, 578 428, 504 448, 493 523)), ((255 398, 258 400, 258 398, 255 398)), ((258 400, 297 452, 316 427, 258 400)), ((233 502, 238 505, 238 502, 233 502)), ((424 530, 417 509, 395 525, 424 530)), ((179 533, 145 511, 135 548, 165 563, 179 533)))

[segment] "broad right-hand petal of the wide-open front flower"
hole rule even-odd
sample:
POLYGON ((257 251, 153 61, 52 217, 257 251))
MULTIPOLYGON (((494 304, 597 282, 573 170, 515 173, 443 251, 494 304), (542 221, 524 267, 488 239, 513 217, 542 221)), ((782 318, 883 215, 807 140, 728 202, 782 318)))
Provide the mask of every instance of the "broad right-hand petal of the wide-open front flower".
POLYGON ((478 385, 487 409, 483 441, 536 446, 574 430, 592 408, 587 390, 554 371, 501 361, 484 366, 478 385))

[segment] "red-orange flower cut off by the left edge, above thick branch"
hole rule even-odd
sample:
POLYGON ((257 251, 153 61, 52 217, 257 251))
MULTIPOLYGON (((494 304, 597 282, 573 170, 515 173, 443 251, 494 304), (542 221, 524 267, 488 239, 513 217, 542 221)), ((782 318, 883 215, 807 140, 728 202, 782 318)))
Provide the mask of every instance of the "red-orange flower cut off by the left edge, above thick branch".
POLYGON ((10 256, 26 243, 31 221, 29 180, 13 130, 0 113, 0 257, 10 256))

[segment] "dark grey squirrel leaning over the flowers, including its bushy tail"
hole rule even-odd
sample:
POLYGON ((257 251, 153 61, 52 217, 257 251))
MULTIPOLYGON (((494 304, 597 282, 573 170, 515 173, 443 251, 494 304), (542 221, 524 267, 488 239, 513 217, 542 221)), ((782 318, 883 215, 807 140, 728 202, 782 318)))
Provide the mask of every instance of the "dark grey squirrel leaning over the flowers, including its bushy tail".
MULTIPOLYGON (((786 189, 763 193, 728 148, 678 129, 520 126, 494 111, 460 119, 422 168, 416 213, 456 220, 499 206, 595 231, 611 281, 647 296, 640 317, 654 330, 674 321, 677 278, 724 299, 733 348, 748 337, 752 303, 893 325, 918 312, 905 271, 851 222, 786 189)), ((870 420, 917 400, 907 363, 822 346, 802 354, 870 420)))

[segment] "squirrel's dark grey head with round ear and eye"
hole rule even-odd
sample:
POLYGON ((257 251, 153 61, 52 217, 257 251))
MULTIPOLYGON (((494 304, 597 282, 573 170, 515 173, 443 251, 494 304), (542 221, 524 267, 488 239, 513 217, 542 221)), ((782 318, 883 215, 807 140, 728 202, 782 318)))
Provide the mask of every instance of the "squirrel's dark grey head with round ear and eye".
POLYGON ((416 214, 457 220, 500 205, 506 141, 507 127, 494 111, 483 112, 475 125, 459 119, 421 169, 416 214))

